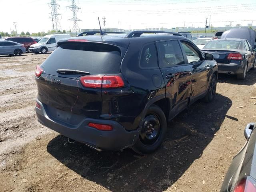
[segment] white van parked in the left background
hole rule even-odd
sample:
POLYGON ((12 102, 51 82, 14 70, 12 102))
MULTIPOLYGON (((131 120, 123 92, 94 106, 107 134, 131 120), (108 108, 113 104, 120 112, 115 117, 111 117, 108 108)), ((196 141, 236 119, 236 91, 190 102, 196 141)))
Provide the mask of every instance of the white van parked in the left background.
POLYGON ((41 52, 42 54, 46 54, 48 51, 54 51, 57 48, 57 42, 63 38, 69 38, 69 34, 53 34, 46 35, 38 43, 33 44, 28 49, 30 52, 34 52, 38 54, 41 52))

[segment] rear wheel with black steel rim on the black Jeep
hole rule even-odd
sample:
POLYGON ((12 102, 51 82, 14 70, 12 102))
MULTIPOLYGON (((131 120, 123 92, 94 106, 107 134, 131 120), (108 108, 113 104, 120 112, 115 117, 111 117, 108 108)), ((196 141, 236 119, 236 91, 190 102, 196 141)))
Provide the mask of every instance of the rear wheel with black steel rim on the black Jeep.
POLYGON ((166 117, 162 109, 150 106, 144 118, 140 136, 132 149, 139 154, 156 151, 162 144, 167 131, 166 117))

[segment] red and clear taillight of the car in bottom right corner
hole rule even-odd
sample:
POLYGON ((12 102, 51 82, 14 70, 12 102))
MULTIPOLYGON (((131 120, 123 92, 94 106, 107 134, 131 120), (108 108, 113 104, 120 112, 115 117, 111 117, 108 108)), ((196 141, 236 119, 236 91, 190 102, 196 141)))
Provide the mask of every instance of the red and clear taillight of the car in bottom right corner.
POLYGON ((256 192, 256 181, 248 176, 236 184, 234 192, 256 192))

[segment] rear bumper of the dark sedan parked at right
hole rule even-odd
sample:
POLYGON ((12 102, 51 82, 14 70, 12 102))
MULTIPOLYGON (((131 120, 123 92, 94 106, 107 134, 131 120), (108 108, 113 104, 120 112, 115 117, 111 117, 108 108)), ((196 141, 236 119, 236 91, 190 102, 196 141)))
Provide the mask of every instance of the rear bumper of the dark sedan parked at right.
POLYGON ((241 64, 222 64, 218 63, 218 73, 225 73, 225 74, 243 74, 244 69, 241 64))

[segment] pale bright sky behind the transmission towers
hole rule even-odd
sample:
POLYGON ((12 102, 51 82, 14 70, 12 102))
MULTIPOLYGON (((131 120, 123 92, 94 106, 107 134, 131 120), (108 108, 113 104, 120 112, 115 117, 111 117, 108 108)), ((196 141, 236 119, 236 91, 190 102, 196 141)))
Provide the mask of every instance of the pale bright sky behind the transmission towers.
MULTIPOLYGON (((52 30, 51 0, 0 0, 0 31, 15 30, 26 32, 47 32, 52 30)), ((73 28, 72 11, 67 8, 71 0, 56 0, 59 4, 58 16, 62 30, 73 28)), ((255 0, 76 0, 80 29, 102 28, 102 18, 106 18, 106 28, 144 29, 174 27, 214 27, 226 24, 256 25, 255 0), (211 17, 211 19, 210 19, 211 17)))

